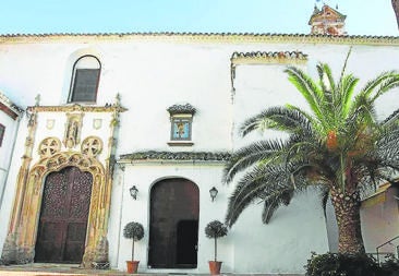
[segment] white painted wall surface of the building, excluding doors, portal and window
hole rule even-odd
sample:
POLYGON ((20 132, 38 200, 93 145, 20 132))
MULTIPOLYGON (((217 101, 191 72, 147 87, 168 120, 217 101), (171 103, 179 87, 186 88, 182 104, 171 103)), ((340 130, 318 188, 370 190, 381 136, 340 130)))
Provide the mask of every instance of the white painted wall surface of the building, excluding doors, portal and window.
MULTIPOLYGON (((117 155, 137 151, 207 151, 225 152, 238 148, 250 141, 261 139, 254 133, 241 139, 239 125, 265 107, 293 103, 303 106, 294 87, 287 82, 282 72, 285 65, 238 65, 232 92, 230 80, 230 57, 234 51, 292 51, 309 55, 309 61, 301 65, 316 76, 315 64, 324 61, 332 67, 338 76, 349 45, 290 43, 286 41, 181 41, 166 38, 101 38, 98 40, 77 37, 63 39, 26 39, 20 43, 0 44, 0 89, 17 105, 35 104, 35 96, 41 95, 40 105, 64 105, 70 89, 73 62, 82 55, 95 55, 101 62, 101 75, 97 105, 113 103, 117 93, 129 110, 121 113, 117 155), (233 100, 232 100, 233 99, 233 100), (167 108, 174 104, 190 103, 197 109, 193 118, 192 147, 171 147, 170 121, 167 108)), ((354 45, 348 62, 348 72, 361 77, 360 86, 377 73, 398 69, 399 47, 354 45)), ((396 93, 378 103, 380 118, 398 108, 396 93)), ((94 117, 84 117, 82 140, 86 135, 98 135, 108 142, 108 122, 96 131, 92 128, 94 117), (107 124, 107 125, 106 125, 107 124)), ((49 136, 63 136, 65 116, 40 113, 35 140, 34 161, 38 160, 37 145, 49 136), (46 120, 56 118, 56 128, 46 130, 46 120)), ((16 148, 12 159, 7 200, 0 211, 1 221, 8 225, 15 180, 21 166, 26 119, 21 123, 16 148)), ((266 136, 276 136, 266 133, 266 136)), ((280 134, 278 134, 280 135, 280 134)), ((62 139, 61 139, 62 140, 62 139)), ((106 153, 99 156, 104 160, 106 153)), ((1 157, 0 159, 3 159, 1 157)), ((131 242, 123 239, 121 231, 130 220, 141 220, 148 229, 148 199, 150 185, 166 177, 183 177, 200 187, 200 249, 198 268, 206 273, 207 261, 213 255, 211 240, 205 238, 203 229, 214 218, 222 220, 228 195, 233 184, 221 185, 222 166, 206 165, 135 165, 118 170, 112 190, 109 228, 109 252, 113 267, 124 269, 131 242), (132 201, 128 190, 132 184, 140 189, 137 201, 132 201), (208 190, 219 190, 211 203, 208 190)), ((4 241, 7 227, 0 228, 0 247, 4 241)), ((142 272, 146 267, 148 236, 137 242, 137 256, 142 272)), ((276 213, 269 225, 261 223, 259 205, 247 208, 228 237, 219 240, 219 257, 223 272, 303 272, 311 251, 328 250, 327 232, 318 200, 306 193, 293 200, 292 204, 276 213)))

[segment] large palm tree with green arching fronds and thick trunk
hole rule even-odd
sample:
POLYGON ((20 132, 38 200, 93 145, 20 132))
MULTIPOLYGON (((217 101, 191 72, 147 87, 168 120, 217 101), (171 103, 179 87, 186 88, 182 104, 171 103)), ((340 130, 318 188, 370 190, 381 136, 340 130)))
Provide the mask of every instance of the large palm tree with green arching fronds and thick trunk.
POLYGON ((271 107, 243 123, 242 135, 273 129, 288 137, 262 140, 232 154, 223 180, 229 183, 238 172, 244 175, 229 199, 229 227, 255 200, 263 201, 262 219, 267 224, 279 206, 316 187, 324 207, 328 196, 335 207, 339 252, 364 252, 361 194, 399 170, 399 124, 379 122, 375 100, 399 85, 399 74, 382 73, 355 94, 359 79, 346 74, 348 58, 349 53, 338 82, 325 63, 317 64, 317 81, 295 67, 287 68, 310 111, 292 105, 271 107))

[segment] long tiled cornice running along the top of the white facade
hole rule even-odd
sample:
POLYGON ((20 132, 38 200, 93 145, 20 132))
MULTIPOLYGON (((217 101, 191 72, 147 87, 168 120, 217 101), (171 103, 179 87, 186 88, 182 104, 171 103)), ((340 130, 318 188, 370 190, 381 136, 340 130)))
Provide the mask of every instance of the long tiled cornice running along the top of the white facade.
POLYGON ((306 34, 252 34, 252 33, 104 33, 104 34, 12 34, 0 35, 0 44, 28 43, 90 43, 123 40, 162 40, 181 43, 292 43, 292 44, 342 44, 342 45, 394 45, 398 36, 364 35, 306 35, 306 34))

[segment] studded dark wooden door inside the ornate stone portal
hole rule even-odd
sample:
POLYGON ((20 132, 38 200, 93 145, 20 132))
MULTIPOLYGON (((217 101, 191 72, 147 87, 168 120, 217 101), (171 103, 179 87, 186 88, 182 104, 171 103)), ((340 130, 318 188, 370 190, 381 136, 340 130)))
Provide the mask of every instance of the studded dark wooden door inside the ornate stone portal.
POLYGON ((35 262, 82 262, 92 183, 92 175, 76 167, 48 175, 43 193, 35 262))

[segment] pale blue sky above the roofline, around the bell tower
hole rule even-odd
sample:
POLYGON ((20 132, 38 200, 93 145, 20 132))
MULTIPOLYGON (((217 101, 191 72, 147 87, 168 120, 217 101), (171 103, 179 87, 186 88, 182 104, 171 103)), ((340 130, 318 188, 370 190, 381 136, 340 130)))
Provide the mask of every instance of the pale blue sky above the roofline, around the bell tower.
POLYGON ((348 35, 398 36, 390 0, 0 0, 0 34, 309 34, 314 5, 347 15, 348 35))

